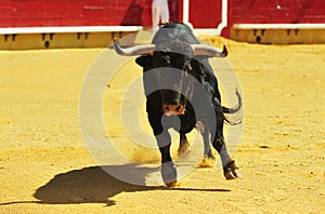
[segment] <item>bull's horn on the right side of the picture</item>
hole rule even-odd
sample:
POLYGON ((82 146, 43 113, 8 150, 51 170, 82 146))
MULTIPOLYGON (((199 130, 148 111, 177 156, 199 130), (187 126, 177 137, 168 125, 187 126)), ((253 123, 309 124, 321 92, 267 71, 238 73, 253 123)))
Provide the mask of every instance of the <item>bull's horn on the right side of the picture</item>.
POLYGON ((191 44, 194 55, 205 55, 210 57, 225 57, 227 56, 226 46, 223 45, 223 50, 217 49, 214 46, 209 46, 205 44, 191 44))

